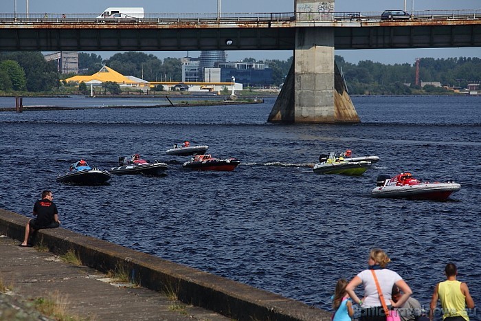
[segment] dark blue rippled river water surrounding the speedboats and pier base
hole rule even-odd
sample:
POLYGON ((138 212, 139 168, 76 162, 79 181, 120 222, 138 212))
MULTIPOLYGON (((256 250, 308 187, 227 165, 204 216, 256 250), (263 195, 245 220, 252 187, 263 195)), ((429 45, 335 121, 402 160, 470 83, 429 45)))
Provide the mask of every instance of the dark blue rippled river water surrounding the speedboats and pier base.
MULTIPOLYGON (((366 268, 372 247, 390 255, 425 308, 453 261, 480 305, 481 97, 353 97, 361 123, 350 125, 269 124, 273 102, 0 112, 0 208, 31 217, 41 190, 51 189, 63 228, 322 309, 338 278, 366 268), (228 173, 183 170, 187 157, 165 154, 183 140, 242 164, 228 173), (346 148, 381 160, 361 177, 312 172, 320 153, 346 148), (115 176, 97 187, 55 181, 80 157, 107 169, 133 153, 167 162, 168 175, 115 176), (462 189, 447 202, 370 197, 377 175, 404 171, 462 189)), ((142 103, 165 100, 23 100, 142 103)), ((14 98, 0 98, 12 106, 14 98)))

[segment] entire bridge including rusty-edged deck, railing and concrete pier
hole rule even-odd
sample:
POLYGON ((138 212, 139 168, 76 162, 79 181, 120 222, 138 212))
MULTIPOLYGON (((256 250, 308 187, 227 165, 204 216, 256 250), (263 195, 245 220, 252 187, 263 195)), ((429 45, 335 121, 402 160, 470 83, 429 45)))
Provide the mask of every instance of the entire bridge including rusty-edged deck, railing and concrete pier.
MULTIPOLYGON (((0 14, 1 51, 294 51, 270 122, 354 123, 359 117, 334 63, 334 49, 481 47, 481 10, 335 12, 295 0, 295 12, 145 14, 0 14), (306 9, 307 8, 307 9, 306 9)), ((326 8, 326 1, 322 8, 326 8)), ((331 10, 332 9, 332 10, 331 10)))

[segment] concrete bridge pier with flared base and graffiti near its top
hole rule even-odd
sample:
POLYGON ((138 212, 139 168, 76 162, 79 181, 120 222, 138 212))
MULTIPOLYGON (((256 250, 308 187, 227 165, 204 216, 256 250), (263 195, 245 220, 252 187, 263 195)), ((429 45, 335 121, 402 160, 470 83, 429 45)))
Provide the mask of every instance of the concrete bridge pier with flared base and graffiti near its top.
MULTIPOLYGON (((320 4, 301 3, 300 6, 300 2, 304 1, 296 1, 298 9, 321 8, 320 4)), ((331 8, 334 10, 334 1, 331 8)), ((298 16, 316 15, 302 12, 298 16)), ((300 27, 296 30, 293 65, 268 121, 328 124, 360 121, 335 65, 333 27, 300 27)))

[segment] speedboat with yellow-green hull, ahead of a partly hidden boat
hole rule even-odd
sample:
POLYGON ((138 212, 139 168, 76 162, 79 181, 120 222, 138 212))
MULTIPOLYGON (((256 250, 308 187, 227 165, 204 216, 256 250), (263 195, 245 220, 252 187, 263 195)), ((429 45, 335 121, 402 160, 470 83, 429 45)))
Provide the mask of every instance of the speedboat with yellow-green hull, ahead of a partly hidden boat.
POLYGON ((317 174, 362 175, 371 166, 371 162, 348 162, 344 157, 335 157, 335 153, 321 155, 320 163, 313 167, 317 174))

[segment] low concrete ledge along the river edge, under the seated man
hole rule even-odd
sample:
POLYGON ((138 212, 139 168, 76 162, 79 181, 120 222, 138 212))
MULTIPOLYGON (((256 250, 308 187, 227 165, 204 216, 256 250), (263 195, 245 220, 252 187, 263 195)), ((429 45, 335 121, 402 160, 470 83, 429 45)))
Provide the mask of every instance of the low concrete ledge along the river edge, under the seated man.
MULTIPOLYGON (((0 234, 23 240, 27 221, 0 209, 0 234)), ((73 250, 84 265, 102 272, 128 272, 142 287, 175 293, 186 304, 236 320, 331 320, 331 313, 302 302, 63 228, 39 230, 32 241, 58 255, 73 250)))

